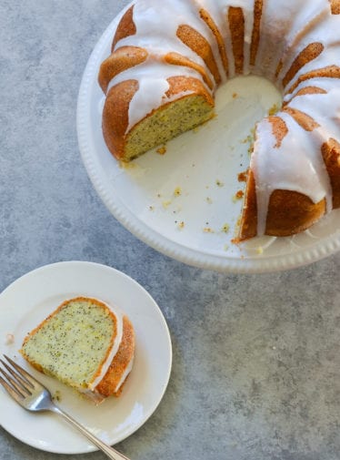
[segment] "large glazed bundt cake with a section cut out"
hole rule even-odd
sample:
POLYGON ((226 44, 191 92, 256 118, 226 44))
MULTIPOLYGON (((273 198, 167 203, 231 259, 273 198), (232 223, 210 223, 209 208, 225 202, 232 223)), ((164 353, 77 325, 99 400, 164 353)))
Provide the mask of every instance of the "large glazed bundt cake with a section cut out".
POLYGON ((106 145, 129 161, 212 118, 216 87, 250 73, 283 106, 256 124, 236 242, 340 207, 340 0, 135 0, 98 76, 106 145))

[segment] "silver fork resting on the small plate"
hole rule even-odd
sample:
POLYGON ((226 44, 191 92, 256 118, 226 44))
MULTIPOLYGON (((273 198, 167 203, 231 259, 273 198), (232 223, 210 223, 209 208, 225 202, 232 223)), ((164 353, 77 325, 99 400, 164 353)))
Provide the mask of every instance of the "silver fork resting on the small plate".
POLYGON ((27 411, 51 411, 55 414, 62 415, 67 422, 73 424, 87 439, 89 439, 94 445, 101 449, 109 458, 112 460, 129 460, 125 455, 117 452, 110 445, 106 445, 98 439, 94 434, 90 433, 85 427, 62 411, 52 401, 50 392, 45 386, 38 382, 30 373, 27 373, 19 364, 8 358, 4 354, 4 357, 8 363, 5 363, 2 359, 0 362, 4 365, 5 369, 0 367, 0 372, 4 378, 0 375, 0 383, 4 386, 8 394, 10 394, 16 403, 20 404, 27 411))

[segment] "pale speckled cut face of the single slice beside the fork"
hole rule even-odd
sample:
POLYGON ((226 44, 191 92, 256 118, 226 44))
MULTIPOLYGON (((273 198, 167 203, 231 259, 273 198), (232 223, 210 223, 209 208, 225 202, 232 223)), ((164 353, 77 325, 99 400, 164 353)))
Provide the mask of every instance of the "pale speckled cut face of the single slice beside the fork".
POLYGON ((75 387, 87 387, 105 360, 115 322, 105 308, 88 301, 67 303, 29 336, 23 352, 45 373, 75 387))

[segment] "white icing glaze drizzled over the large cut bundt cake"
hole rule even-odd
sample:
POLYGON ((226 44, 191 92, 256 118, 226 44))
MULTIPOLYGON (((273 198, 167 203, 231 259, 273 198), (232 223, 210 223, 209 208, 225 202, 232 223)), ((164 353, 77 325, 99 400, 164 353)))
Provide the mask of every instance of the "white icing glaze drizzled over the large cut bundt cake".
MULTIPOLYGON (((202 77, 195 70, 184 66, 168 66, 161 62, 161 56, 168 52, 184 55, 205 66, 197 56, 176 36, 179 26, 186 24, 195 28, 212 46, 215 61, 221 77, 225 79, 222 59, 214 34, 200 18, 200 9, 205 9, 215 22, 225 42, 229 77, 235 76, 235 58, 231 44, 230 27, 227 20, 230 6, 241 7, 245 15, 244 73, 252 71, 275 81, 282 87, 282 79, 292 66, 295 57, 311 43, 321 43, 323 52, 302 66, 288 82, 289 90, 297 79, 312 70, 325 66, 340 66, 340 37, 335 31, 340 27, 340 15, 331 15, 328 0, 265 0, 260 25, 260 41, 254 68, 249 64, 252 34, 254 28, 255 0, 164 0, 160 7, 158 0, 136 0, 134 22, 136 34, 120 40, 116 47, 142 46, 150 56, 145 63, 122 72, 111 82, 110 87, 128 78, 139 83, 129 109, 128 129, 135 126, 154 108, 166 101, 168 88, 166 78, 175 75, 202 77), (155 59, 158 56, 158 59, 155 59), (281 70, 275 77, 281 62, 281 70)), ((210 77, 211 74, 209 73, 210 77)), ((256 141, 251 158, 251 169, 255 174, 258 208, 258 234, 265 232, 265 219, 271 193, 275 189, 286 189, 304 193, 315 203, 326 199, 327 211, 332 208, 332 190, 321 155, 321 147, 329 138, 340 138, 340 88, 338 80, 330 77, 315 77, 302 81, 285 94, 288 107, 304 112, 319 128, 306 131, 286 112, 278 117, 285 121, 288 132, 279 148, 272 132, 271 123, 265 119, 256 127, 256 141), (300 95, 299 89, 309 86, 320 87, 326 94, 300 95), (330 109, 332 107, 332 109, 330 109)))

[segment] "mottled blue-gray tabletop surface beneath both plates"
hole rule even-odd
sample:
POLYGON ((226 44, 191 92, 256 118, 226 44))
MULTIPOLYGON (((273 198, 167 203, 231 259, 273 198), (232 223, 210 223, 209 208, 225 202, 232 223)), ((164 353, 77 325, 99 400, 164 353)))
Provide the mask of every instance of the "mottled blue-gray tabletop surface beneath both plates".
MULTIPOLYGON (((78 87, 123 5, 0 2, 0 289, 47 263, 81 260, 124 271, 155 298, 174 366, 155 414, 117 445, 132 460, 337 460, 340 255, 264 275, 191 268, 136 240, 87 178, 78 87)), ((67 457, 0 428, 1 460, 67 457)), ((68 458, 80 457, 103 455, 68 458)))

